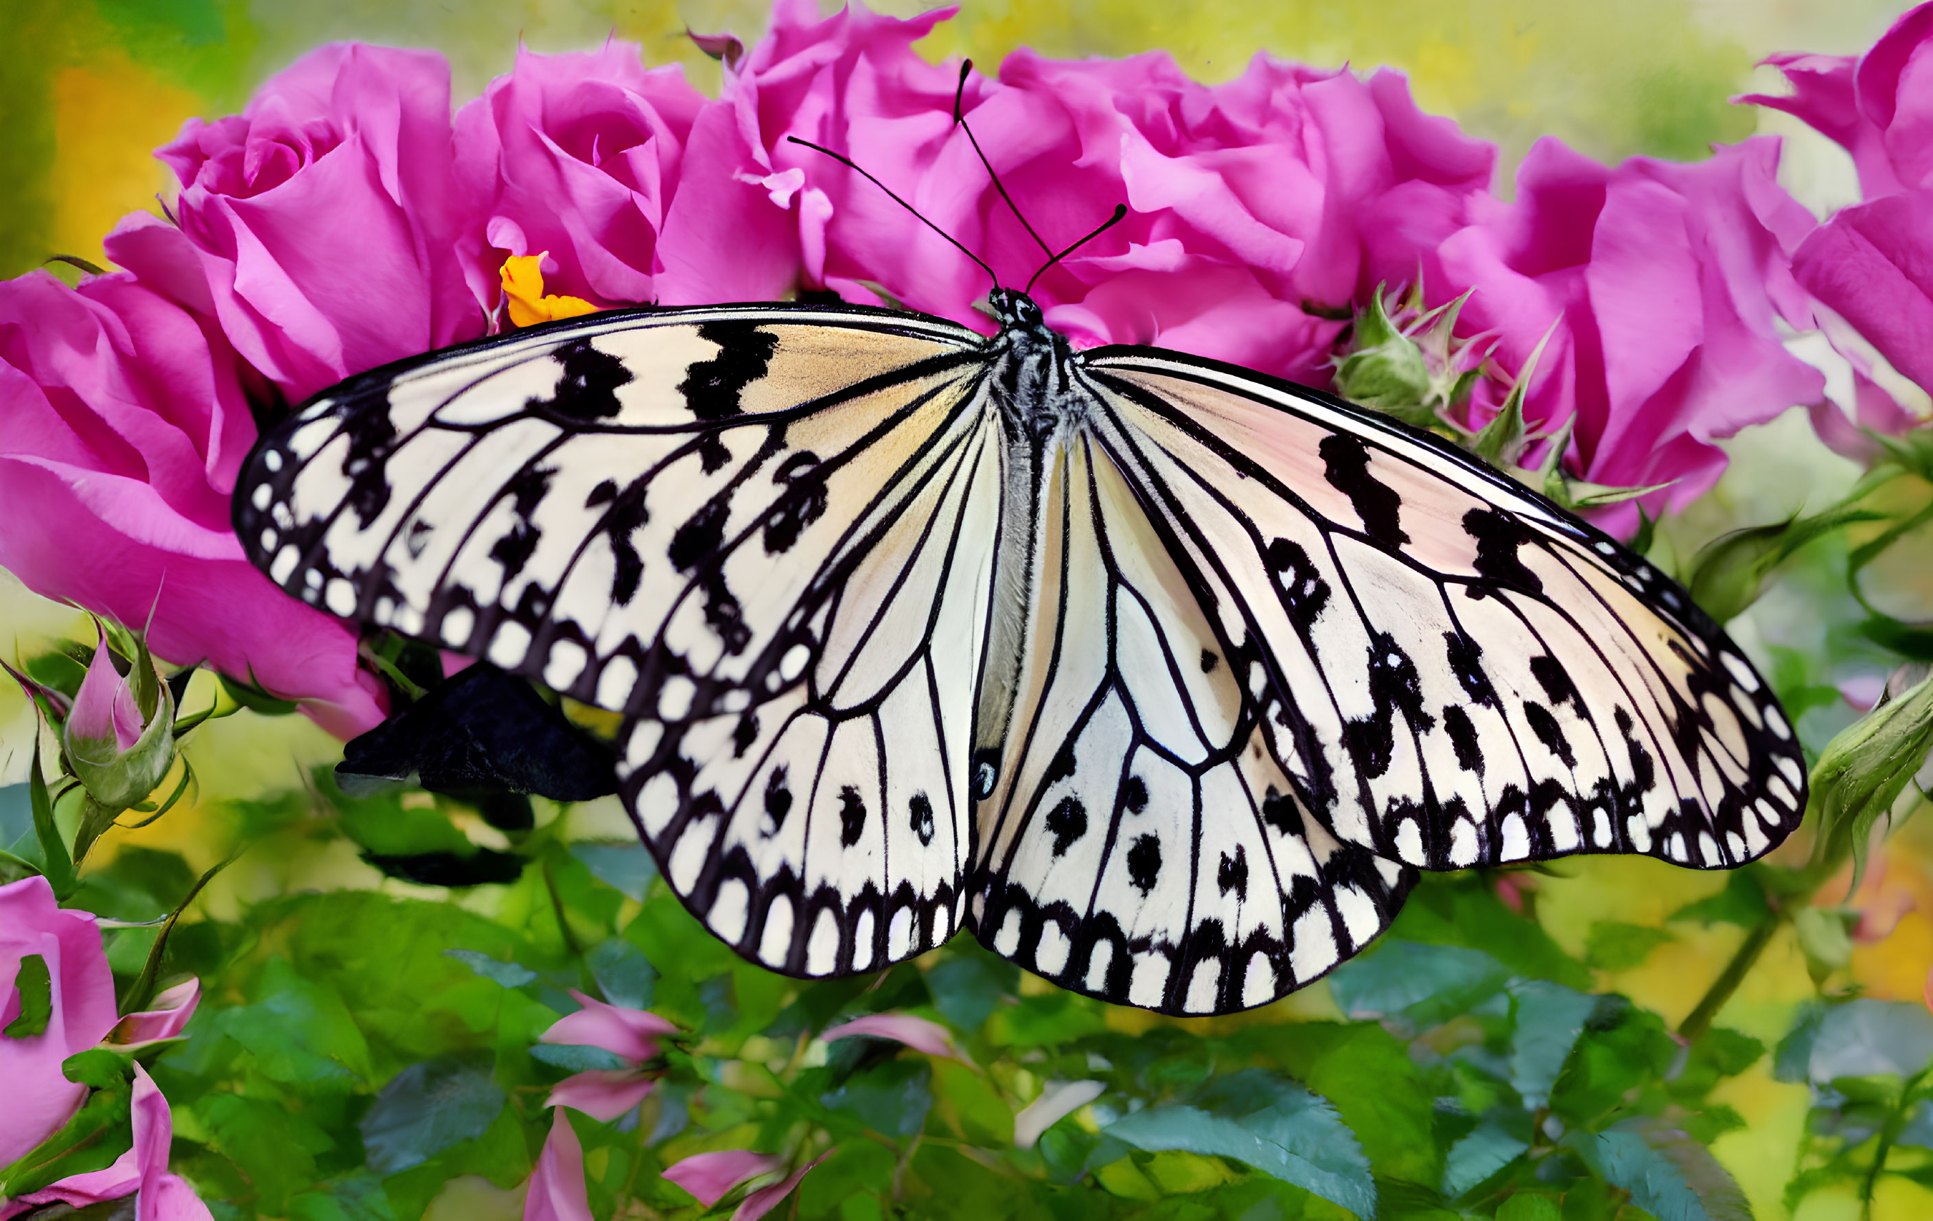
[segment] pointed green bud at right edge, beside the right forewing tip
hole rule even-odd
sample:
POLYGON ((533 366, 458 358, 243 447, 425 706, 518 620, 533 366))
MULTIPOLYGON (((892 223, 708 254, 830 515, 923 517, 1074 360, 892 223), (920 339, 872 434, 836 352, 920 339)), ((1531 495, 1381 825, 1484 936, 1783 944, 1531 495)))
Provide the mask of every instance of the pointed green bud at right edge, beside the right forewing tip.
POLYGON ((1933 674, 1881 703, 1832 738, 1811 773, 1805 815, 1817 819, 1813 869, 1829 873, 1852 858, 1852 894, 1865 875, 1873 823, 1927 761, 1933 748, 1933 674))

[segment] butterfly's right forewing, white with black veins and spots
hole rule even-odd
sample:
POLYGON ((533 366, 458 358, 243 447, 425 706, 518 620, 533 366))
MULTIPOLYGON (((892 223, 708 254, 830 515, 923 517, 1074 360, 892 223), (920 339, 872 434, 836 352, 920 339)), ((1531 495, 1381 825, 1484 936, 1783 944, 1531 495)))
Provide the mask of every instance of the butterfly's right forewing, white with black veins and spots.
POLYGON ((1430 869, 1730 867, 1803 811, 1769 686, 1651 564, 1450 446, 1146 350, 1088 371, 1168 529, 1235 593, 1334 835, 1430 869))

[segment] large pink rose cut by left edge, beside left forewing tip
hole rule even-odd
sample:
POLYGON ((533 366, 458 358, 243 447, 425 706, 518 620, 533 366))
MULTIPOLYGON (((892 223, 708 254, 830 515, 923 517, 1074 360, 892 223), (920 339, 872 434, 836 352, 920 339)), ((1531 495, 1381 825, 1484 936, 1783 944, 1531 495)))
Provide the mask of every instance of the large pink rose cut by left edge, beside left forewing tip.
POLYGON ((336 734, 383 719, 356 634, 242 558, 228 495, 255 421, 195 251, 133 214, 106 240, 131 272, 73 290, 0 282, 0 566, 149 647, 302 699, 336 734))

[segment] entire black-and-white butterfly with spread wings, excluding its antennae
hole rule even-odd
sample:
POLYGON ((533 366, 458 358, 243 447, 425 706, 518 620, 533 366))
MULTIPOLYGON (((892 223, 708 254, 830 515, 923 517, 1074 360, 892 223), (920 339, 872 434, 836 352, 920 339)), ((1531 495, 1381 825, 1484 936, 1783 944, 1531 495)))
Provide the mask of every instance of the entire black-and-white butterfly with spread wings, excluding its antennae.
POLYGON ((284 589, 624 715, 686 906, 822 978, 972 927, 1226 1012, 1417 867, 1726 867, 1803 808, 1682 589, 1388 417, 1024 294, 613 311, 352 379, 249 458, 284 589))

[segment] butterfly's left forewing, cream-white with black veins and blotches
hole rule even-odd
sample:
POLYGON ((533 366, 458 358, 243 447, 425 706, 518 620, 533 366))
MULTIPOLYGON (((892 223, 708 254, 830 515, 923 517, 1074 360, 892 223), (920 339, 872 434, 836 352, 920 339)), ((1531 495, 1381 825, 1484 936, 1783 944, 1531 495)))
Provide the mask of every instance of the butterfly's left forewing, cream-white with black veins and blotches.
POLYGON ((885 311, 717 307, 437 352, 261 444, 236 529, 334 614, 613 711, 707 715, 798 678, 806 620, 965 410, 978 342, 885 311))

